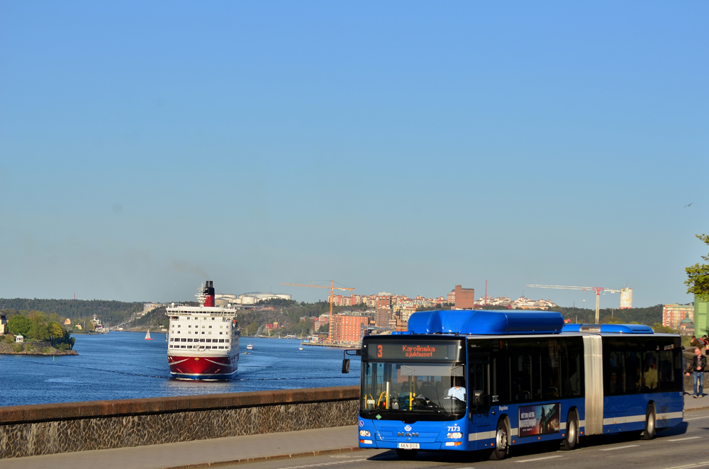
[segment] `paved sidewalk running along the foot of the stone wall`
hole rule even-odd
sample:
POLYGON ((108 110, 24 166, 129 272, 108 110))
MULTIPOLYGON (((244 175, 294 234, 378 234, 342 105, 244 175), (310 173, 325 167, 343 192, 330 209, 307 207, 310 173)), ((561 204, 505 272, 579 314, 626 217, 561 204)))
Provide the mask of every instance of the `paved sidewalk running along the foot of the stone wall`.
POLYGON ((358 444, 357 426, 353 425, 0 459, 0 466, 3 469, 200 469, 225 463, 354 451, 358 444))

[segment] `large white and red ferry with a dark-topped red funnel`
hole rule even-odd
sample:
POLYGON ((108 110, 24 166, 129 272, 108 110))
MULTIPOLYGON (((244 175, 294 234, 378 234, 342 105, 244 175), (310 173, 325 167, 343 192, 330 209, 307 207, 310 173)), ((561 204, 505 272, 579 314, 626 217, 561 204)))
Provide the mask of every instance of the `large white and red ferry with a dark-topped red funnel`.
POLYGON ((237 309, 214 305, 214 286, 207 281, 196 294, 199 306, 172 305, 167 363, 172 378, 228 380, 239 364, 237 309))

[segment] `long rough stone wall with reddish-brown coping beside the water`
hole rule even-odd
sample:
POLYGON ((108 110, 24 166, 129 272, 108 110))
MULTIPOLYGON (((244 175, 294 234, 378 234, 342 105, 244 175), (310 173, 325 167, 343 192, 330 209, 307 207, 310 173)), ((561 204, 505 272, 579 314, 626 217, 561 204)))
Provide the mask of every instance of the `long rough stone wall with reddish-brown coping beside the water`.
POLYGON ((359 387, 0 407, 0 458, 357 423, 359 387))

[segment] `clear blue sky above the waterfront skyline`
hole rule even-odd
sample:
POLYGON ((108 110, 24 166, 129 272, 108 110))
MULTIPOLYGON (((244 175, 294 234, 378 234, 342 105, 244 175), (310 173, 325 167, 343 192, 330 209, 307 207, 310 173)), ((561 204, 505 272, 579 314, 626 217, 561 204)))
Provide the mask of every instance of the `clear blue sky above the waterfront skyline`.
POLYGON ((0 298, 184 300, 208 277, 308 301, 326 290, 279 282, 691 301, 708 17, 0 1, 0 298))

